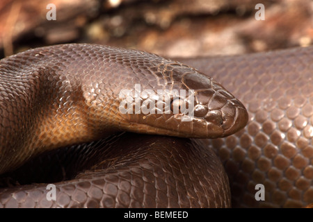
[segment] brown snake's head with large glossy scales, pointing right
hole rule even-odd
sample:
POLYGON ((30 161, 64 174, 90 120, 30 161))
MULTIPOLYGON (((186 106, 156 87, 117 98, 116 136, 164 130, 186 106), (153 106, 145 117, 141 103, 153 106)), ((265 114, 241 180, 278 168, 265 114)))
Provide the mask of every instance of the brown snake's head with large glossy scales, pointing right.
POLYGON ((157 81, 142 80, 150 83, 137 85, 134 91, 125 94, 133 96, 128 98, 130 105, 125 106, 127 99, 120 103, 124 118, 129 121, 127 130, 217 138, 232 135, 246 126, 246 108, 209 76, 170 60, 161 62, 157 68, 150 67, 150 71, 152 79, 157 76, 157 81), (131 112, 125 112, 127 108, 131 112))

